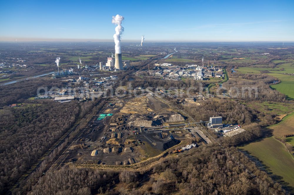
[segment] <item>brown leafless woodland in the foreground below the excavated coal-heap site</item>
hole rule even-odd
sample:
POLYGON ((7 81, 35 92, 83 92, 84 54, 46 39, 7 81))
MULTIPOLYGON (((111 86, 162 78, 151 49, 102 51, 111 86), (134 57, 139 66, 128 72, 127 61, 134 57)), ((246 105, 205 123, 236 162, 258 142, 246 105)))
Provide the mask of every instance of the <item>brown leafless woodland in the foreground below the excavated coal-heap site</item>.
POLYGON ((61 169, 29 194, 284 194, 278 183, 233 147, 206 145, 161 159, 141 172, 61 169))

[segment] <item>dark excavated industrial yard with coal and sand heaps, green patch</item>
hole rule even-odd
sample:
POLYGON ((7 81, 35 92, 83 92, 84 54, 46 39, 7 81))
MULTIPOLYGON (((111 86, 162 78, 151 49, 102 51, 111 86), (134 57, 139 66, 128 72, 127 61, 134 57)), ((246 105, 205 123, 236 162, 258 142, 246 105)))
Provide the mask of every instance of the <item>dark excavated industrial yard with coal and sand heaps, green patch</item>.
POLYGON ((130 165, 182 147, 187 117, 151 94, 107 101, 68 148, 63 164, 130 165))

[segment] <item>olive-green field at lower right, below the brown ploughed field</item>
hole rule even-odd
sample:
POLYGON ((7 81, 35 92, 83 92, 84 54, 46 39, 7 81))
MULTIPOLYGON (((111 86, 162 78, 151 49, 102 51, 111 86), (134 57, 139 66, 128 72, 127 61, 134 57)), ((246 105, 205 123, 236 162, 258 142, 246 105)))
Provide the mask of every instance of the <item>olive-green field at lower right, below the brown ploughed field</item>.
POLYGON ((294 187, 294 159, 283 143, 270 137, 240 148, 257 157, 268 167, 269 172, 283 177, 281 180, 294 187))

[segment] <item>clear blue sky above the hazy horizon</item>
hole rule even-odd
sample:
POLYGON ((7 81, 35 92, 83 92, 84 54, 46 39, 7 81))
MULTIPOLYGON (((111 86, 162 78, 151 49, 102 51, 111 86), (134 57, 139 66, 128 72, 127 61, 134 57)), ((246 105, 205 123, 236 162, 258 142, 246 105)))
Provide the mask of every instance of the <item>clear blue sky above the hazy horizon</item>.
MULTIPOLYGON (((294 41, 294 1, 1 1, 0 40, 294 41)), ((138 42, 139 42, 138 41, 138 42)))

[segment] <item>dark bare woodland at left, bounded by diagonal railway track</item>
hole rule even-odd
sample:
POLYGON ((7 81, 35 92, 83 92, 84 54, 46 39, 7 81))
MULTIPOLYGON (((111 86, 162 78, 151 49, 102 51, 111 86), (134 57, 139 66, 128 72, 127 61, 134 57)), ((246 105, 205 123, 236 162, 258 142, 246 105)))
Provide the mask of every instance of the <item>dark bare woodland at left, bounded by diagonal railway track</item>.
POLYGON ((78 114, 76 102, 48 100, 1 114, 0 193, 72 126, 78 114))

